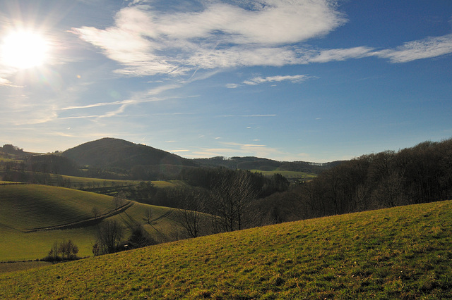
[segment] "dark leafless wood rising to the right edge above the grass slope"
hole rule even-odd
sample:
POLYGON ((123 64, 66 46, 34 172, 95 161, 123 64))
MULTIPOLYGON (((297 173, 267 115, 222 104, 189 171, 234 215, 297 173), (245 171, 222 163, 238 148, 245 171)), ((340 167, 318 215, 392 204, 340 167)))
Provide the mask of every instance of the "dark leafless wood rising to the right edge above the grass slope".
POLYGON ((452 139, 346 161, 256 203, 263 224, 452 197, 452 139))

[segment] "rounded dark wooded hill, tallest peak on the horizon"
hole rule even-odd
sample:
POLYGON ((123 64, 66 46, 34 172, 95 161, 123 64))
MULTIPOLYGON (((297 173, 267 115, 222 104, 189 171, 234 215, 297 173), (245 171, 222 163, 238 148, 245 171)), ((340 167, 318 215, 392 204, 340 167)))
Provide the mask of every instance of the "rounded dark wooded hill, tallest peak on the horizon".
POLYGON ((133 144, 124 139, 105 137, 81 144, 63 152, 78 165, 96 168, 123 168, 130 170, 134 165, 186 165, 196 166, 194 161, 182 158, 151 146, 133 144))

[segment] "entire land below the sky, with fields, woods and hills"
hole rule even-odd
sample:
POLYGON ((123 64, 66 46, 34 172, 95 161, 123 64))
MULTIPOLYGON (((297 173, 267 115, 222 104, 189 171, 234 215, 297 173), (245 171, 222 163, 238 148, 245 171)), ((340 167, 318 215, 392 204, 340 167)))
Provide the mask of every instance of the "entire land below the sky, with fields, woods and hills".
MULTIPOLYGON (((128 148, 119 164, 81 165, 60 153, 4 151, 0 296, 444 298, 451 143, 331 164, 128 165, 136 159, 128 148), (112 246, 102 244, 107 228, 118 230, 112 246), (59 252, 67 241, 78 261, 59 252), (52 257, 66 262, 43 261, 52 257)), ((154 151, 139 148, 141 157, 154 151)))

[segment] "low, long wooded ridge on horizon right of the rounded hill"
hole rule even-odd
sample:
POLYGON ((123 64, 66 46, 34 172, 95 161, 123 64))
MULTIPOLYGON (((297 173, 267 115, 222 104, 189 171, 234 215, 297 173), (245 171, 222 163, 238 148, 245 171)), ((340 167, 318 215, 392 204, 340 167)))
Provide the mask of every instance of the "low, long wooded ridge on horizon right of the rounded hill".
POLYGON ((194 161, 200 165, 225 167, 242 170, 286 170, 305 173, 319 174, 323 170, 333 168, 344 161, 333 161, 331 163, 309 163, 306 161, 274 161, 268 158, 258 158, 254 156, 231 157, 216 156, 213 158, 195 158, 194 161))

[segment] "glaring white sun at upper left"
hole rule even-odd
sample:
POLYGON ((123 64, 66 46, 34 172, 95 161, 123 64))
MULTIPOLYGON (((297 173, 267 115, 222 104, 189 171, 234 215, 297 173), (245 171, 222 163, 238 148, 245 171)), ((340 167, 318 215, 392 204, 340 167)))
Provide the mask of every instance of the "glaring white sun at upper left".
POLYGON ((18 69, 27 69, 45 63, 49 45, 39 34, 31 31, 11 32, 1 45, 1 62, 18 69))

